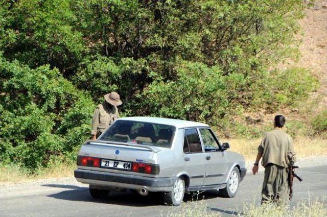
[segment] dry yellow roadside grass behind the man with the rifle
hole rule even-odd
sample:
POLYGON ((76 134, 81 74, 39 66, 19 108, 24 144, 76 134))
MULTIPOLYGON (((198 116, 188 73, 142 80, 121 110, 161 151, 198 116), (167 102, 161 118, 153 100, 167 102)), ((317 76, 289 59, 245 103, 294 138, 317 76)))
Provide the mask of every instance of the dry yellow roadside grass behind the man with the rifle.
MULTIPOLYGON (((222 139, 222 141, 228 141, 230 150, 243 154, 246 161, 253 161, 261 139, 222 139)), ((293 143, 297 158, 327 155, 326 139, 298 137, 293 143)))

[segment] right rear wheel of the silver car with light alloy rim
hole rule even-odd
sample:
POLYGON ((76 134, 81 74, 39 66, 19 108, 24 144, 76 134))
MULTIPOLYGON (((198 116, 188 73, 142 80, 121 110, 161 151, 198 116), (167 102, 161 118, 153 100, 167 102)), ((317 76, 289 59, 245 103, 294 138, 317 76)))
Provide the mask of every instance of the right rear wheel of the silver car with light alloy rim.
POLYGON ((164 201, 166 205, 179 206, 183 201, 185 193, 185 181, 178 177, 174 183, 173 190, 164 193, 164 201))

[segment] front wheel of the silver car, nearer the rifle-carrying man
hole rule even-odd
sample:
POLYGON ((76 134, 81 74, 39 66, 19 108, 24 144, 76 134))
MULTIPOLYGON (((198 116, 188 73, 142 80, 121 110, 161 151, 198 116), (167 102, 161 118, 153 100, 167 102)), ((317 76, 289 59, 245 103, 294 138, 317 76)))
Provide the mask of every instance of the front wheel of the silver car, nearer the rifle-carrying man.
POLYGON ((225 198, 235 197, 239 189, 239 184, 240 184, 240 171, 237 167, 234 167, 228 177, 227 186, 223 189, 219 189, 220 195, 225 198))

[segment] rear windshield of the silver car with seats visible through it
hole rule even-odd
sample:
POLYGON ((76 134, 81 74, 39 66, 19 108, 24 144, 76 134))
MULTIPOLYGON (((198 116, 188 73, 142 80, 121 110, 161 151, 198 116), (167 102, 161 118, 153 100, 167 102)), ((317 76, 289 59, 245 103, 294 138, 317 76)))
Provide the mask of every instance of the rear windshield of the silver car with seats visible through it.
POLYGON ((174 133, 175 127, 169 125, 116 120, 100 139, 170 148, 174 133))

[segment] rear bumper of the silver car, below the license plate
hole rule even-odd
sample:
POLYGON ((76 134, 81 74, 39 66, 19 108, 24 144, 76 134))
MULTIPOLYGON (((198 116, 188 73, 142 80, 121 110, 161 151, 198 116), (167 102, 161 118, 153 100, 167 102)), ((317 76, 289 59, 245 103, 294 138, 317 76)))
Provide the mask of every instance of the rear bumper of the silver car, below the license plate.
POLYGON ((175 177, 152 178, 83 169, 75 170, 74 176, 86 184, 136 190, 146 188, 148 191, 170 191, 176 181, 175 177))

